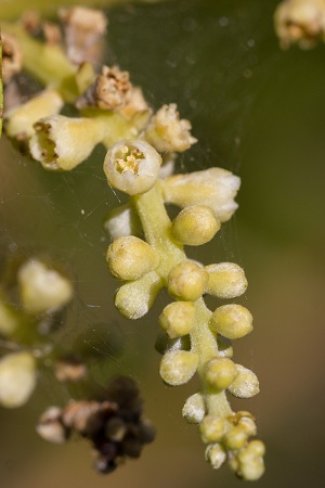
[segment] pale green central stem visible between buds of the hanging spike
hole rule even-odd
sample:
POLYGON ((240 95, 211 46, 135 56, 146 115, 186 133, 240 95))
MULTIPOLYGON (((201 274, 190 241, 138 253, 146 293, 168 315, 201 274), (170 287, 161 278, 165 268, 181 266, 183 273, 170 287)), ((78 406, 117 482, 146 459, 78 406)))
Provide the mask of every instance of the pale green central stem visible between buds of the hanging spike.
MULTIPOLYGON (((176 265, 186 259, 183 246, 178 244, 170 234, 171 221, 165 208, 164 198, 156 184, 143 195, 132 197, 142 222, 145 239, 161 257, 160 265, 155 271, 167 284, 168 274, 176 265)), ((199 358, 197 374, 199 376, 202 393, 206 401, 206 410, 210 414, 229 416, 233 414, 225 391, 210 391, 205 381, 205 364, 218 356, 216 334, 209 328, 211 311, 203 298, 195 301, 196 320, 191 336, 191 350, 199 358)))

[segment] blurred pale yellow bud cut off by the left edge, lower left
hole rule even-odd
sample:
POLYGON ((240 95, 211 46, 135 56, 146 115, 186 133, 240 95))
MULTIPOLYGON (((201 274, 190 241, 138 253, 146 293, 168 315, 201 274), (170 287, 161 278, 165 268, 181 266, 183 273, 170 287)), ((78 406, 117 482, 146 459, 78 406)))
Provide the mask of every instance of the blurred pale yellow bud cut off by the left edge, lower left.
POLYGON ((22 407, 36 385, 35 359, 29 352, 14 352, 0 360, 0 404, 22 407))

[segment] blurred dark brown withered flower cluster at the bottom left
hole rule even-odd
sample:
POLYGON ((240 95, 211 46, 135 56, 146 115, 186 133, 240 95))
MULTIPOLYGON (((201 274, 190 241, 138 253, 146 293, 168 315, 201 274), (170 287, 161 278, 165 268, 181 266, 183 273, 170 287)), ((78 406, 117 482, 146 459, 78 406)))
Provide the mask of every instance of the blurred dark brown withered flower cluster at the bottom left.
POLYGON ((73 400, 66 407, 50 407, 40 418, 38 434, 54 444, 65 442, 74 433, 91 441, 94 466, 112 473, 127 457, 139 458, 142 447, 155 438, 155 429, 142 414, 135 383, 117 377, 101 399, 73 400))

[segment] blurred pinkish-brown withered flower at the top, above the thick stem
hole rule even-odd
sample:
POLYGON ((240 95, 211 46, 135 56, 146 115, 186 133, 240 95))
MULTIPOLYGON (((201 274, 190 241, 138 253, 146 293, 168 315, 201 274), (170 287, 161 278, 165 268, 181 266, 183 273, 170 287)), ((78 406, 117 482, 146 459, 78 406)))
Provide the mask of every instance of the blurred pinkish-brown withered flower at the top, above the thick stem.
POLYGON ((67 56, 73 63, 89 61, 98 64, 106 31, 107 21, 103 12, 84 7, 62 9, 58 12, 65 34, 67 56))

